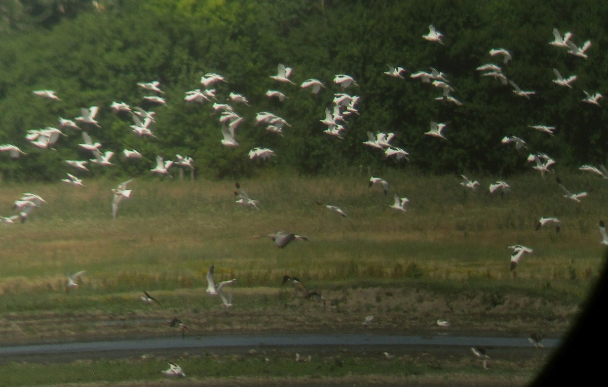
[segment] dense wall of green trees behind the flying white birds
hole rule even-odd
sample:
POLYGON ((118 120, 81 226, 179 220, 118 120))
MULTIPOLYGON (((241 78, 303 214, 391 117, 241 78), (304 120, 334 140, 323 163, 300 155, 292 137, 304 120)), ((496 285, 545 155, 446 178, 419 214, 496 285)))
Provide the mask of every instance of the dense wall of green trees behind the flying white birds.
POLYGON ((277 156, 266 164, 303 174, 344 172, 358 165, 501 175, 528 168, 525 156, 500 144, 505 135, 522 136, 531 151, 548 153, 561 167, 605 161, 608 133, 601 127, 608 124, 608 113, 581 103, 582 90, 601 91, 608 82, 601 49, 608 43, 603 3, 353 1, 346 9, 342 2, 303 0, 99 3, 97 9, 84 0, 2 2, 0 143, 30 153, 17 162, 0 157, 3 178, 55 180, 66 171, 61 158, 89 157, 78 150, 78 133, 62 138, 54 157, 33 149, 23 136, 92 105, 101 107, 102 129, 94 133, 106 150, 137 147, 148 160, 140 166, 121 162, 114 172, 96 173, 143 173, 157 154, 172 158, 179 153, 195 159, 199 176, 249 176, 264 167, 247 158, 255 146, 275 150, 277 156), (446 45, 421 38, 430 23, 444 33, 446 45), (591 39, 589 59, 548 45, 553 27, 572 31, 578 45, 591 39), (492 47, 511 50, 513 59, 503 70, 522 89, 536 91, 529 101, 475 71, 496 62, 488 54, 492 47), (319 78, 326 89, 313 96, 277 84, 269 75, 278 63, 294 69, 296 84, 319 78), (383 75, 387 64, 410 72, 437 68, 446 73, 463 106, 435 101, 436 88, 417 79, 383 75), (553 67, 578 75, 574 90, 551 82, 553 67), (218 102, 231 91, 250 99, 251 107, 236 107, 246 122, 238 130, 237 150, 219 144, 218 116, 209 103, 183 101, 185 91, 199 87, 207 72, 229 80, 215 86, 218 102), (325 135, 319 123, 333 93, 340 91, 332 81, 337 73, 354 76, 360 86, 348 93, 362 97, 360 115, 348 119, 344 140, 325 135), (161 82, 168 104, 144 106, 157 112, 157 137, 136 138, 128 129, 130 117, 112 115, 108 106, 112 101, 142 105, 145 94, 136 83, 153 79, 161 82), (63 101, 32 98, 34 89, 55 89, 63 101), (264 96, 268 89, 281 90, 289 99, 270 101, 264 96), (283 138, 254 126, 255 113, 265 110, 292 125, 283 138), (447 123, 447 141, 422 134, 430 121, 447 123), (537 123, 556 125, 556 135, 528 127, 537 123), (410 152, 410 163, 385 160, 378 150, 362 146, 367 132, 377 131, 397 133, 393 144, 410 152))

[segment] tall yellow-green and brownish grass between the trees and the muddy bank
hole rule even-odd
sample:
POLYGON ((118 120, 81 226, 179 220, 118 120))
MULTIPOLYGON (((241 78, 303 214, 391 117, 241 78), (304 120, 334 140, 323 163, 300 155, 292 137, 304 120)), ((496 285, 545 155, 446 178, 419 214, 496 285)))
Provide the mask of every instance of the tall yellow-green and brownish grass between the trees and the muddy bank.
POLYGON ((218 277, 243 286, 269 286, 286 273, 313 281, 432 281, 511 279, 510 244, 526 244, 517 283, 589 281, 603 254, 597 223, 606 217, 606 181, 564 173, 572 191, 562 197, 553 177, 511 178, 505 197, 491 195, 486 178, 477 192, 458 177, 387 172, 389 195, 368 187, 367 173, 345 177, 295 177, 281 173, 240 181, 260 210, 234 203, 233 181, 137 180, 133 195, 111 217, 111 191, 119 181, 85 180, 85 187, 8 184, 0 192, 2 215, 22 192, 48 204, 25 224, 0 224, 0 294, 61 288, 67 272, 86 269, 85 283, 102 292, 206 286, 218 277), (389 208, 393 193, 410 199, 406 213, 389 208), (341 207, 339 217, 316 202, 341 207), (541 216, 562 220, 562 232, 534 231, 541 216), (288 230, 309 237, 278 249, 252 236, 288 230))

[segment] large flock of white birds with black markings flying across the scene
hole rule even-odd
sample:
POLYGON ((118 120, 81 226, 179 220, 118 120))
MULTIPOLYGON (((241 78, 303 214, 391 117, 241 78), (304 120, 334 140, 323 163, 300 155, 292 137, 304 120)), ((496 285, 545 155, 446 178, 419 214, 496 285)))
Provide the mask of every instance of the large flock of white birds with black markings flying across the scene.
MULTIPOLYGON (((580 57, 581 59, 587 59, 587 50, 589 50, 591 46, 591 42, 588 40, 582 44, 581 47, 578 47, 574 42, 572 42, 573 35, 568 32, 562 35, 557 29, 553 29, 553 41, 548 42, 548 44, 553 45, 555 47, 561 49, 567 49, 568 53, 571 55, 575 55, 580 57)), ((422 36, 429 42, 436 42, 438 44, 444 45, 442 40, 443 34, 439 32, 434 25, 429 25, 429 33, 427 35, 422 36)), ((489 50, 489 55, 493 58, 499 58, 501 64, 489 62, 486 64, 482 64, 482 66, 477 67, 477 71, 482 72, 482 76, 488 76, 496 79, 502 85, 510 85, 513 87, 513 93, 516 96, 522 96, 524 98, 530 99, 531 96, 535 95, 536 92, 533 90, 523 90, 517 84, 509 79, 502 70, 501 66, 508 65, 508 62, 513 59, 513 55, 506 49, 491 49, 489 50)), ((390 76, 396 79, 406 79, 407 70, 404 67, 396 67, 396 66, 388 66, 389 69, 384 72, 385 75, 390 76)), ((553 79, 554 84, 559 87, 566 87, 568 89, 572 89, 573 82, 576 81, 576 75, 568 75, 567 77, 562 76, 561 72, 557 68, 553 68, 553 72, 556 76, 556 79, 553 79)), ((277 81, 278 84, 289 84, 294 86, 295 83, 291 80, 292 69, 283 64, 279 64, 277 67, 277 74, 269 76, 274 81, 277 81)), ((441 95, 437 96, 438 101, 443 101, 447 103, 455 104, 456 106, 461 106, 463 103, 455 98, 452 93, 455 91, 455 88, 451 86, 449 82, 449 76, 444 74, 443 72, 438 71, 437 69, 431 68, 430 72, 419 71, 412 73, 410 75, 412 79, 420 79, 423 83, 430 84, 436 87, 441 91, 441 95)), ((244 122, 243 116, 241 116, 237 112, 237 106, 249 106, 249 101, 246 96, 237 93, 235 91, 231 91, 227 98, 220 98, 218 96, 217 90, 214 88, 218 82, 227 83, 227 79, 217 73, 207 73, 206 75, 201 77, 200 84, 201 86, 198 89, 189 90, 185 92, 184 101, 187 103, 198 103, 198 104, 211 104, 211 107, 215 113, 219 113, 219 124, 221 127, 221 136, 218 134, 218 140, 221 141, 221 144, 228 148, 238 147, 238 127, 244 122)), ((358 115, 357 104, 360 99, 358 95, 350 95, 347 93, 347 90, 350 90, 353 87, 357 87, 358 83, 356 80, 346 74, 337 74, 333 78, 334 84, 336 87, 339 87, 339 92, 334 93, 333 103, 330 107, 325 109, 325 118, 319 119, 319 121, 325 126, 324 133, 330 136, 334 136, 337 138, 343 138, 345 133, 347 132, 346 124, 347 119, 351 115, 358 115)), ((162 96, 164 95, 163 90, 161 89, 161 84, 158 81, 152 82, 140 82, 137 83, 137 87, 144 90, 148 95, 142 96, 142 101, 145 101, 147 104, 154 104, 155 106, 165 106, 167 104, 167 100, 162 96)), ((327 89, 328 87, 323 84, 319 79, 306 79, 301 82, 300 87, 302 89, 308 89, 313 94, 317 94, 322 92, 323 89, 327 89)), ((34 90, 33 94, 36 96, 40 96, 41 98, 47 98, 54 101, 60 101, 59 96, 54 90, 34 90)), ((602 98, 600 93, 589 93, 584 91, 584 98, 582 98, 582 102, 593 104, 599 106, 599 99, 602 98)), ((266 96, 268 98, 276 99, 279 102, 283 102, 289 98, 289 95, 280 90, 268 90, 266 92, 266 96)), ((133 133, 139 137, 149 137, 154 138, 153 125, 155 122, 155 112, 147 111, 142 109, 142 107, 131 107, 125 103, 118 103, 116 101, 109 104, 109 108, 115 115, 120 115, 122 117, 129 117, 133 121, 133 124, 130 126, 133 130, 133 133)), ((96 120, 97 114, 100 111, 100 108, 97 106, 91 106, 89 108, 83 107, 81 108, 81 115, 75 117, 74 119, 65 119, 58 118, 57 127, 44 127, 44 129, 32 129, 27 130, 26 139, 29 143, 38 148, 38 149, 54 149, 57 146, 58 141, 61 136, 66 136, 67 130, 70 130, 70 133, 80 133, 82 136, 83 142, 78 144, 81 149, 86 150, 91 153, 92 158, 89 160, 65 160, 65 163, 68 166, 72 167, 70 172, 74 173, 88 173, 88 164, 96 164, 101 167, 111 167, 114 165, 112 163, 112 158, 116 155, 113 150, 102 150, 103 145, 98 141, 95 141, 94 138, 89 135, 89 133, 94 133, 95 130, 100 129, 100 124, 96 120), (66 133, 64 133, 66 132, 66 133)), ((265 130, 271 133, 275 133, 277 135, 283 136, 283 130, 290 127, 291 125, 284 118, 275 115, 271 112, 258 112, 255 118, 255 125, 263 124, 265 126, 265 130)), ((437 123, 435 121, 430 122, 430 127, 424 135, 434 136, 440 138, 441 140, 447 140, 444 132, 446 130, 447 124, 445 123, 437 123)), ((539 130, 541 132, 547 133, 548 135, 553 136, 554 130, 556 130, 556 126, 550 126, 547 124, 531 124, 531 129, 539 130)), ((409 160, 409 153, 400 148, 393 146, 391 144, 392 140, 395 138, 395 133, 367 133, 367 141, 363 141, 362 144, 370 147, 371 149, 378 149, 381 152, 384 152, 385 156, 394 157, 397 161, 409 160)), ((514 144, 516 149, 521 152, 523 149, 528 149, 527 143, 522 140, 522 138, 516 136, 505 136, 502 139, 503 144, 514 144)), ((18 159, 19 156, 27 155, 26 152, 23 152, 18 147, 13 144, 3 144, 0 145, 0 152, 9 152, 10 156, 13 159, 18 159)), ((143 158, 142 154, 135 149, 123 149, 122 156, 125 160, 141 160, 143 158)), ((250 150, 249 157, 254 159, 268 160, 272 156, 275 156, 273 150, 268 149, 267 147, 257 146, 250 150)), ((542 175, 545 173, 552 173, 553 171, 550 169, 556 161, 553 160, 550 156, 542 152, 532 152, 527 158, 528 161, 533 163, 533 169, 539 170, 542 175)), ((156 156, 156 166, 150 169, 151 173, 155 173, 157 175, 170 175, 171 167, 179 166, 187 169, 194 169, 194 163, 192 158, 188 156, 176 155, 176 160, 164 160, 161 155, 156 156)), ((608 170, 604 166, 590 166, 585 165, 581 166, 579 169, 584 171, 589 171, 593 173, 597 173, 599 176, 604 179, 608 179, 608 170)), ((66 172, 67 177, 62 181, 66 184, 71 184, 73 186, 84 186, 81 178, 77 177, 75 174, 66 172)), ((463 181, 460 183, 461 186, 465 187, 465 189, 477 190, 477 187, 480 185, 478 181, 471 180, 465 175, 462 176, 463 181)), ((131 197, 131 189, 128 189, 129 184, 133 181, 133 178, 127 180, 115 189, 112 189, 112 217, 116 219, 117 212, 119 208, 119 204, 122 200, 131 197)), ((387 195, 389 191, 389 183, 387 181, 382 180, 379 177, 371 177, 369 180, 369 186, 379 185, 382 186, 384 190, 384 194, 387 195)), ((579 202, 581 198, 586 197, 586 192, 580 193, 571 193, 568 189, 564 187, 564 185, 559 181, 558 184, 562 190, 564 190, 564 197, 570 200, 579 202)), ((253 200, 249 198, 246 192, 241 189, 240 185, 237 183, 235 190, 236 203, 241 204, 243 206, 254 207, 255 209, 259 209, 260 203, 257 200, 253 200)), ((505 195, 510 191, 511 187, 505 181, 496 181, 496 183, 492 183, 489 186, 489 191, 500 192, 502 195, 505 195)), ((32 193, 24 193, 24 195, 15 201, 15 209, 18 211, 18 214, 12 215, 10 217, 2 217, 2 223, 14 223, 15 220, 21 219, 21 221, 25 221, 30 214, 30 212, 36 208, 41 206, 41 204, 46 203, 42 198, 38 197, 38 195, 32 193)), ((388 204, 390 208, 398 210, 399 212, 406 212, 406 206, 409 203, 409 199, 406 197, 400 197, 397 193, 394 195, 393 204, 388 204)), ((321 204, 321 203, 319 203, 321 204)), ((331 204, 325 205, 326 208, 330 210, 336 211, 340 216, 347 217, 346 213, 337 206, 333 206, 331 204)), ((545 224, 555 224, 556 231, 559 232, 561 222, 557 218, 553 217, 541 217, 539 223, 537 224, 537 229, 544 226, 545 224)), ((600 232, 602 236, 601 243, 608 245, 608 237, 606 235, 606 228, 604 226, 603 221, 600 222, 600 232)), ((291 234, 289 232, 277 232, 275 234, 263 235, 271 237, 273 241, 277 244, 278 247, 285 247, 292 240, 307 240, 305 237, 300 235, 291 234)), ((519 244, 515 244, 513 246, 508 246, 513 250, 513 254, 511 254, 511 270, 515 269, 517 264, 520 261, 520 258, 523 254, 530 254, 533 252, 533 249, 527 246, 522 246, 519 244)), ((78 277, 80 277, 84 272, 78 272, 75 275, 70 275, 68 277, 68 287, 76 288, 78 277)), ((222 291, 223 286, 227 284, 231 284, 236 280, 224 281, 223 283, 215 286, 213 283, 213 266, 210 268, 209 274, 207 275, 207 279, 209 281, 209 288, 207 292, 213 295, 221 295, 223 299, 224 306, 232 306, 232 294, 226 295, 222 291)), ((146 294, 146 297, 142 297, 147 303, 151 303, 156 301, 149 294, 146 294)), ((447 321, 438 321, 438 325, 447 326, 449 323, 447 321)), ((171 364, 170 369, 164 371, 166 375, 181 375, 183 372, 179 368, 179 366, 171 364)))

